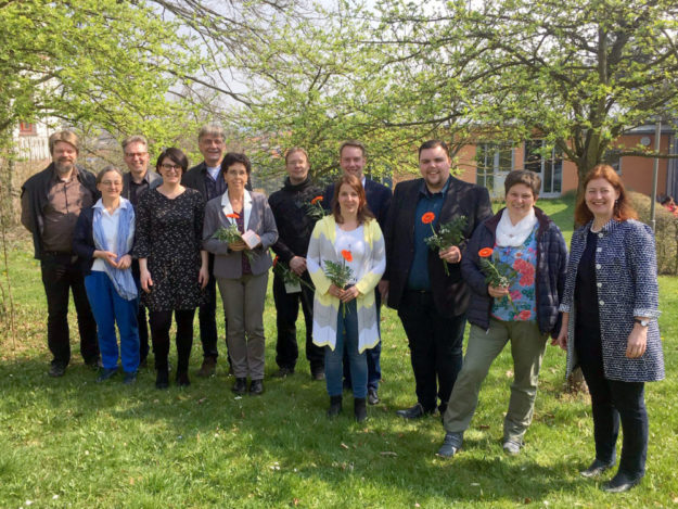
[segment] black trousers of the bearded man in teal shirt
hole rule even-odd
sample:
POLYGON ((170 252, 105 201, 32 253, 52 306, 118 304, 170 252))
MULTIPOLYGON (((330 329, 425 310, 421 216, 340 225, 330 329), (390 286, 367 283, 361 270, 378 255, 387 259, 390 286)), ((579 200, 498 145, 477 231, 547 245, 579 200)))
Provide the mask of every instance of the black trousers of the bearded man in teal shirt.
POLYGON ((431 292, 408 290, 398 305, 398 316, 410 345, 417 400, 425 411, 437 406, 444 413, 463 362, 466 315, 443 316, 431 292))

